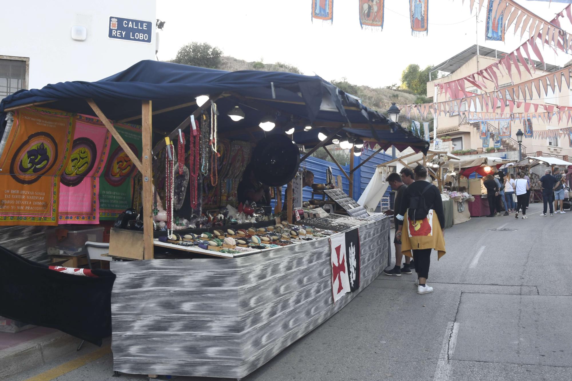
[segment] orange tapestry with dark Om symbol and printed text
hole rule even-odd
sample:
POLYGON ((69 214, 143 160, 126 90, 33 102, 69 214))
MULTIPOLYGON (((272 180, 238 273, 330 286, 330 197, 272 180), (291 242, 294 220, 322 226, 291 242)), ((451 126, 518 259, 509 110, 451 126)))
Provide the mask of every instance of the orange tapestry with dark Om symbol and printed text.
POLYGON ((67 165, 72 114, 25 108, 0 157, 0 225, 57 225, 59 178, 67 165))

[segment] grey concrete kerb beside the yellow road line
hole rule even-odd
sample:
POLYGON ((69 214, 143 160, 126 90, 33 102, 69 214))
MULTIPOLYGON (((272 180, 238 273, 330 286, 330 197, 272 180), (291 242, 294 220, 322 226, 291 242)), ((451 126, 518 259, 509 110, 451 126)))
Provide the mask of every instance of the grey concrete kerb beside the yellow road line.
POLYGON ((7 379, 75 352, 80 343, 81 340, 74 336, 54 332, 1 350, 0 379, 7 379))

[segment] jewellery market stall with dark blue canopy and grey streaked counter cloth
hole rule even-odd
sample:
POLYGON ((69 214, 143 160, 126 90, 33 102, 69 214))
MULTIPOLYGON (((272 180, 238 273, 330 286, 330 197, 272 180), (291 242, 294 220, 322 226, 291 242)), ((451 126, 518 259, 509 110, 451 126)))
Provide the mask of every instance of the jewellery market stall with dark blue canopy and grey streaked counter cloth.
MULTIPOLYGON (((291 73, 142 61, 105 80, 15 93, 2 101, 0 112, 3 121, 11 119, 2 124, 5 162, 18 157, 9 143, 26 125, 23 113, 49 117, 48 126, 61 134, 54 139, 63 142, 59 150, 49 138, 25 142, 33 147, 26 146, 21 161, 45 170, 41 175, 52 179, 54 195, 60 178, 92 181, 100 171, 100 181, 86 193, 96 193, 94 205, 101 197, 92 190, 101 189, 102 180, 113 187, 106 190, 104 211, 101 205, 96 215, 92 208, 72 210, 67 221, 80 212, 89 223, 92 217, 114 220, 114 370, 133 374, 242 378, 343 308, 383 270, 389 220, 375 213, 356 218, 293 208, 299 162, 340 139, 356 142, 354 149, 367 140, 382 148, 427 150, 427 142, 321 78, 291 73), (78 141, 83 145, 74 146, 78 122, 87 130, 103 129, 106 149, 93 149, 84 136, 78 141), (38 155, 55 152, 61 153, 57 165, 38 161, 38 155), (80 166, 86 152, 97 158, 94 173, 80 166), (257 181, 256 189, 241 187, 245 181, 257 181), (273 193, 281 201, 272 188, 285 184, 282 214, 278 206, 269 208, 268 197, 273 193), (260 205, 246 202, 263 200, 267 191, 260 205), (124 199, 132 208, 121 212, 118 201, 124 199)), ((4 173, 22 181, 32 176, 4 173)), ((351 189, 352 178, 347 180, 351 189)), ((356 209, 339 197, 342 207, 356 209)), ((55 214, 0 216, 0 222, 66 221, 57 203, 38 208, 55 214)))

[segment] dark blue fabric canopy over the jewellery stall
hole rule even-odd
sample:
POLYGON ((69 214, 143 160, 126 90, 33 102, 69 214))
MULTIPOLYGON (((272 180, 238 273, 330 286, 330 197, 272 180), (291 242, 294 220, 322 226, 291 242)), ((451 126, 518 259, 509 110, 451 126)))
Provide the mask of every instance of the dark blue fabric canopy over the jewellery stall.
POLYGON ((343 127, 340 136, 345 137, 345 131, 377 141, 384 148, 395 145, 402 150, 411 146, 424 152, 428 148, 426 141, 318 76, 256 70, 225 72, 158 61, 138 62, 96 82, 60 82, 42 89, 20 90, 0 102, 0 113, 45 102, 43 106, 48 108, 95 116, 86 102, 92 98, 110 120, 128 119, 141 124, 141 101, 150 100, 153 131, 170 133, 196 110, 194 100, 203 94, 221 96, 216 101, 221 137, 261 138, 264 132, 258 124, 271 116, 276 120, 271 133, 295 127, 294 140, 307 147, 319 142, 319 132, 329 135, 343 127), (227 116, 234 106, 244 111, 244 120, 235 122, 227 116), (304 126, 309 124, 313 128, 305 132, 304 126))

